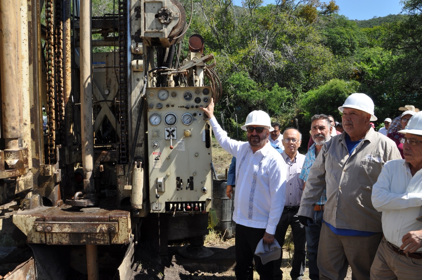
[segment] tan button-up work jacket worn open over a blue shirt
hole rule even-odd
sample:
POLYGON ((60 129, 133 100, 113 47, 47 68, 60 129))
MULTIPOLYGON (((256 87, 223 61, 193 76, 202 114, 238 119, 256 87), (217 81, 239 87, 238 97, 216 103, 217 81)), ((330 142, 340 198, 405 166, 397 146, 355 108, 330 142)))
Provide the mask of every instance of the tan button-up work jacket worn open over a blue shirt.
POLYGON ((327 188, 323 219, 339 229, 382 232, 381 213, 372 206, 372 185, 385 162, 401 159, 395 143, 370 128, 351 156, 346 132, 326 142, 309 171, 298 215, 313 217, 327 188))

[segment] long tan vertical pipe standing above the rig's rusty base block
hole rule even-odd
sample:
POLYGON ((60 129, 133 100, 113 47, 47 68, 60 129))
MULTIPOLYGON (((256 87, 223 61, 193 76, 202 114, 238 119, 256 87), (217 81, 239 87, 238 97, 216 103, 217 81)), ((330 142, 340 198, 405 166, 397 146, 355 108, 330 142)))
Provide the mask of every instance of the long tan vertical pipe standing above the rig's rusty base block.
POLYGON ((92 46, 91 7, 92 0, 80 3, 80 66, 81 66, 81 128, 82 164, 84 166, 84 191, 86 198, 95 192, 93 179, 94 165, 94 125, 92 115, 92 46))

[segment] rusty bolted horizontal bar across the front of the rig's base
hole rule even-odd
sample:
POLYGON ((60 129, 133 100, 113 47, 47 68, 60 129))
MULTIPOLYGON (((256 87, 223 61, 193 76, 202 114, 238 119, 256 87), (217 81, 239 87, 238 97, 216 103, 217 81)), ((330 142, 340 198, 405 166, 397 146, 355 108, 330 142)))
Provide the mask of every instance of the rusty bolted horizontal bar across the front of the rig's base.
POLYGON ((117 222, 38 222, 34 223, 36 232, 61 233, 116 233, 119 231, 117 222))

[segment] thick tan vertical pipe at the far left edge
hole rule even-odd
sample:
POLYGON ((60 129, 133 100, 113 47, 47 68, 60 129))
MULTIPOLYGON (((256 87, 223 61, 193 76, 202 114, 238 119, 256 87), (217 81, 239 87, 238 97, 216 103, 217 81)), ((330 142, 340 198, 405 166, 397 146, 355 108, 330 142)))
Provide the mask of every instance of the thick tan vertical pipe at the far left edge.
POLYGON ((19 148, 18 54, 16 7, 14 1, 0 1, 0 67, 3 137, 7 150, 19 148))

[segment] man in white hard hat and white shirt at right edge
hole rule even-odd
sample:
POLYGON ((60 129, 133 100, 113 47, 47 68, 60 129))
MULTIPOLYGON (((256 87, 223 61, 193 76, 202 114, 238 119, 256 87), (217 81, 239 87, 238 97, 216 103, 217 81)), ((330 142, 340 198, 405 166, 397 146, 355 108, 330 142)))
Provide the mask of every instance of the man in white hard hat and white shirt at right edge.
POLYGON ((372 280, 422 277, 422 112, 399 132, 404 134, 404 159, 387 162, 372 188, 372 204, 382 212, 384 233, 372 263, 372 280))

